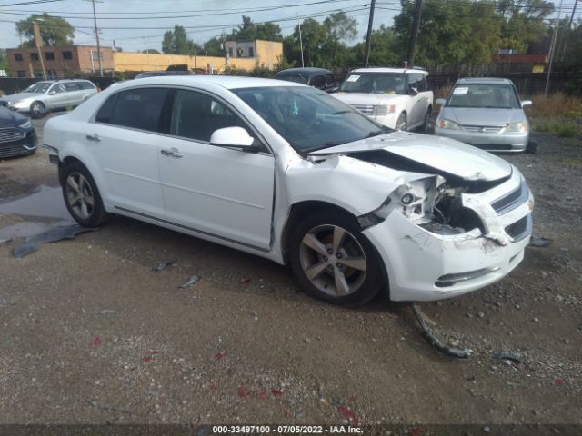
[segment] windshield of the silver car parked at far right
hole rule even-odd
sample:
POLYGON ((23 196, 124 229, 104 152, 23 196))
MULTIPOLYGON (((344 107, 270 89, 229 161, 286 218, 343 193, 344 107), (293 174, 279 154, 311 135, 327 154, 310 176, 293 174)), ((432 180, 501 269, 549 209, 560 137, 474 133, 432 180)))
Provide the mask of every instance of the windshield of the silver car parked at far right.
POLYGON ((521 106, 511 84, 459 84, 448 97, 447 107, 517 109, 521 106))

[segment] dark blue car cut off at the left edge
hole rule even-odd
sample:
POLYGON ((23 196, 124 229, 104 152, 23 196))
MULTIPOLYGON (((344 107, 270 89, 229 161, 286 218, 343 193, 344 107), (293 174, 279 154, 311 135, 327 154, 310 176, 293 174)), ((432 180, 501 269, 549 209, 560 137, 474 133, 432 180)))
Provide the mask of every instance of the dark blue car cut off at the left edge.
POLYGON ((36 143, 35 129, 30 120, 0 106, 0 159, 33 154, 36 143))

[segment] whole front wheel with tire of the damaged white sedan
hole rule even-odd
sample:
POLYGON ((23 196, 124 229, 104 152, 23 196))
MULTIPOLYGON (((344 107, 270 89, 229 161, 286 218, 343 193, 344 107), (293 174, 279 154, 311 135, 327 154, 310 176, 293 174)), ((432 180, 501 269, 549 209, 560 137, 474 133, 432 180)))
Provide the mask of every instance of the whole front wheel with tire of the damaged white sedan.
POLYGON ((385 286, 372 243, 347 213, 319 212, 291 233, 289 263, 301 287, 332 304, 365 304, 385 286))

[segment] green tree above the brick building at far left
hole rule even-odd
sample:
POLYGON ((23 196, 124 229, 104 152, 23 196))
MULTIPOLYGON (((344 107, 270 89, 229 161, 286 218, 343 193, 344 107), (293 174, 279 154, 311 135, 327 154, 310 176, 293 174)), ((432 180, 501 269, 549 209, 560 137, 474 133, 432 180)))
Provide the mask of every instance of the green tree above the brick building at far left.
POLYGON ((15 24, 16 32, 25 36, 27 40, 23 42, 23 47, 35 46, 35 34, 33 31, 33 22, 38 23, 40 37, 43 45, 71 45, 75 37, 75 27, 73 27, 64 18, 48 14, 30 15, 25 20, 15 24))

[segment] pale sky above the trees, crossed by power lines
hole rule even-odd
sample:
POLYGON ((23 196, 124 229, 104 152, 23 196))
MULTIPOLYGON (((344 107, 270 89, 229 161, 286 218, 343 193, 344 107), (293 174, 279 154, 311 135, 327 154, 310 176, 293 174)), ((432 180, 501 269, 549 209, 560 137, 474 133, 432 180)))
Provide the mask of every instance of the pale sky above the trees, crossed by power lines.
MULTIPOLYGON (((445 0, 443 0, 445 1, 445 0)), ((454 1, 454 0, 447 0, 454 1)), ((276 21, 283 35, 293 32, 297 15, 323 21, 339 10, 356 18, 357 41, 366 36, 370 0, 95 0, 101 44, 125 52, 146 48, 161 50, 164 32, 174 25, 186 28, 189 37, 203 43, 223 31, 228 34, 247 15, 254 22, 276 21), (315 15, 315 16, 314 16, 315 15), (115 28, 116 27, 116 28, 115 28), (121 27, 121 28, 119 28, 121 27)), ((575 0, 563 0, 563 15, 572 11, 575 0)), ((559 0, 554 2, 559 5, 559 0)), ((63 16, 76 29, 75 44, 95 45, 91 0, 0 0, 0 48, 16 47, 20 38, 15 21, 38 13, 63 16)), ((376 0, 374 28, 392 25, 400 12, 399 0, 376 0)), ((582 2, 577 16, 582 13, 582 2)))

